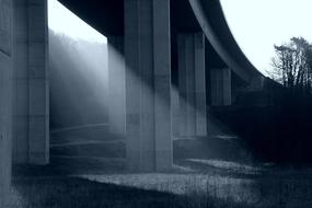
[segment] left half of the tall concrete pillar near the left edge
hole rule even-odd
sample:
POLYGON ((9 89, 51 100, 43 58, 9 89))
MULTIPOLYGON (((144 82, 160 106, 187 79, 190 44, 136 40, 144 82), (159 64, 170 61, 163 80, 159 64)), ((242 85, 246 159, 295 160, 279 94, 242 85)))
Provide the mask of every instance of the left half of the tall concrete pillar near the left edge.
POLYGON ((27 1, 14 0, 13 162, 28 162, 27 1))

